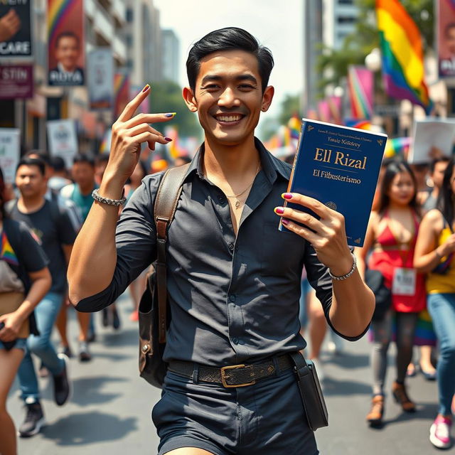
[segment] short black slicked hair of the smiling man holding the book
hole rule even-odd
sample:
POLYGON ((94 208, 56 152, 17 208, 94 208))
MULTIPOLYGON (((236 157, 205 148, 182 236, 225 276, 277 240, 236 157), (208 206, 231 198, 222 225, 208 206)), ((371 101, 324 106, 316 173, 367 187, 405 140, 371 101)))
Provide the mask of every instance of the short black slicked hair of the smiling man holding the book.
POLYGON ((205 55, 220 50, 245 50, 257 58, 259 75, 262 81, 262 92, 269 83, 270 73, 274 65, 272 53, 268 48, 259 45, 257 39, 242 28, 227 27, 211 31, 193 44, 186 60, 186 73, 191 90, 196 89, 196 77, 200 69, 200 60, 205 55))

